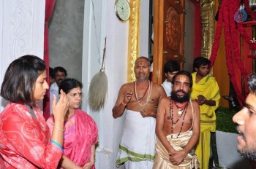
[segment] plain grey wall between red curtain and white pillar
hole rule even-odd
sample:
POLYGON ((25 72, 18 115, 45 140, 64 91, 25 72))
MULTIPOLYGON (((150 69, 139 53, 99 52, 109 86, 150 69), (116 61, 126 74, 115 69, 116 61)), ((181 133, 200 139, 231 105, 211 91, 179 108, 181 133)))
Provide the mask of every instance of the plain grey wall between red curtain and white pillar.
POLYGON ((82 79, 85 0, 56 1, 49 22, 50 67, 62 66, 67 76, 82 79))

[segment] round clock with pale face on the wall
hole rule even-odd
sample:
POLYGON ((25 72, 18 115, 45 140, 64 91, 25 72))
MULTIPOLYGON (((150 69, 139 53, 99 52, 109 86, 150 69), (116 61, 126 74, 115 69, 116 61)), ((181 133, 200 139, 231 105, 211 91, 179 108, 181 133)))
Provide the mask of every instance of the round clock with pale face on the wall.
POLYGON ((121 21, 129 19, 131 9, 127 0, 116 0, 116 15, 121 21))

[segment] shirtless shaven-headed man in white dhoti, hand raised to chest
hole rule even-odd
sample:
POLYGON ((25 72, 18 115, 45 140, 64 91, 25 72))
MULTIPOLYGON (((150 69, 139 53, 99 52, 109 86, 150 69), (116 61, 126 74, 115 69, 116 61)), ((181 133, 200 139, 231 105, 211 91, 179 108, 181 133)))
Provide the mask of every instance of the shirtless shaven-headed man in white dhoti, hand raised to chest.
POLYGON ((160 84, 148 80, 150 62, 146 57, 135 60, 136 81, 123 84, 113 107, 113 117, 126 111, 124 133, 119 144, 116 165, 127 169, 151 169, 155 149, 155 122, 157 105, 166 97, 160 84))

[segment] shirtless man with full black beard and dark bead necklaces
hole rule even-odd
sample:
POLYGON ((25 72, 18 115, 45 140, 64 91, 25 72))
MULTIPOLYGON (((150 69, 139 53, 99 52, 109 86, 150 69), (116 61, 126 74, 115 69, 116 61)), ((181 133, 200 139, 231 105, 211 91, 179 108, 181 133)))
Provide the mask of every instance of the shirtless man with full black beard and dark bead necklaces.
POLYGON ((154 169, 199 167, 194 146, 200 135, 200 111, 197 101, 190 100, 191 87, 191 74, 178 71, 170 97, 159 102, 154 169))

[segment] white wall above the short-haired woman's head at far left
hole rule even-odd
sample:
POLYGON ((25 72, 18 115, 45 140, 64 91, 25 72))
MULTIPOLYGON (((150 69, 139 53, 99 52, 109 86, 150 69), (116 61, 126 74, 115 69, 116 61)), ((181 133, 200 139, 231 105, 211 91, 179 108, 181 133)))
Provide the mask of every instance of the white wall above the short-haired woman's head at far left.
MULTIPOLYGON (((45 1, 0 1, 0 79, 7 66, 22 55, 43 58, 45 1)), ((6 101, 0 97, 0 111, 6 101)))

